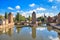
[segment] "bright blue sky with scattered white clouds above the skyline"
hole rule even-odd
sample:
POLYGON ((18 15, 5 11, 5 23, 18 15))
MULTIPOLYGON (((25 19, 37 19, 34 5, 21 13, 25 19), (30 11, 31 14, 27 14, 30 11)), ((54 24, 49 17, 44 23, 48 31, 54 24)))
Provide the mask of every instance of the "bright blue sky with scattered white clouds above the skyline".
POLYGON ((12 12, 15 16, 17 12, 28 17, 32 12, 36 16, 54 16, 60 12, 60 0, 0 0, 0 15, 5 12, 12 12))

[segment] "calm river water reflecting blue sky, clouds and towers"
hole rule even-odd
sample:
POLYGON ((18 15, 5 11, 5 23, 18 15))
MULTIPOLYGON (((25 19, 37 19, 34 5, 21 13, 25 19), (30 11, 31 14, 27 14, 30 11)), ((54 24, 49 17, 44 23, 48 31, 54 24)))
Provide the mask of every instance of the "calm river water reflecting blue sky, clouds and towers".
POLYGON ((60 30, 52 27, 14 26, 8 31, 0 31, 0 40, 59 40, 60 30))

